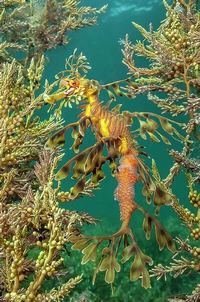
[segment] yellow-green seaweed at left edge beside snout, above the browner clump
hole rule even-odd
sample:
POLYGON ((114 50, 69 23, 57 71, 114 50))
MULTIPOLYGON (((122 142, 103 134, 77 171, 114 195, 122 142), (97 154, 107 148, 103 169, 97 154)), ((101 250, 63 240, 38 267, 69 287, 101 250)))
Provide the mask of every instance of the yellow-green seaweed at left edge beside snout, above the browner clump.
POLYGON ((42 79, 44 57, 37 67, 32 60, 28 70, 29 83, 21 67, 16 70, 16 60, 4 65, 0 80, 0 182, 1 185, 10 174, 6 188, 2 192, 6 204, 26 196, 28 187, 39 187, 33 173, 34 161, 39 161, 45 143, 52 130, 59 127, 53 117, 40 121, 33 114, 44 103, 42 95, 35 96, 42 79), (12 171, 12 173, 11 173, 12 171))

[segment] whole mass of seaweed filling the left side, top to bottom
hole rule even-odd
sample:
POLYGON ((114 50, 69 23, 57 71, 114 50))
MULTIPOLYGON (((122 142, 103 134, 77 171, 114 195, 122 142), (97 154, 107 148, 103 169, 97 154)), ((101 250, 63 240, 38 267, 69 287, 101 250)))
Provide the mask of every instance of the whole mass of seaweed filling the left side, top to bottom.
MULTIPOLYGON (((51 277, 59 278, 68 273, 61 257, 66 250, 68 231, 78 235, 81 225, 97 221, 87 213, 59 208, 59 201, 70 200, 69 192, 60 191, 60 183, 53 189, 54 170, 63 154, 60 148, 53 153, 44 152, 44 144, 52 131, 61 127, 62 121, 53 116, 41 120, 37 110, 44 105, 44 90, 42 94, 39 91, 44 71, 43 53, 67 42, 65 34, 69 28, 64 27, 65 21, 71 22, 71 30, 95 24, 96 17, 84 15, 103 12, 105 7, 97 11, 78 7, 76 1, 42 3, 0 1, 3 42, 0 55, 0 296, 7 301, 60 301, 68 296, 82 280, 81 274, 66 277, 57 289, 43 291, 41 286, 51 277), (42 3, 46 4, 44 10, 41 10, 42 3), (71 6, 64 10, 64 4, 71 6), (62 5, 59 18, 52 23, 51 18, 57 17, 57 13, 49 17, 46 14, 46 19, 38 22, 39 12, 42 17, 44 12, 52 13, 53 8, 62 5), (33 10, 37 7, 35 15, 30 16, 30 7, 33 10), (71 17, 67 17, 67 10, 71 17), (29 22, 33 16, 38 31, 29 22), (43 22, 47 22, 46 27, 43 22), (61 25, 62 33, 56 31, 61 25), (41 32, 41 26, 48 30, 51 41, 35 36, 41 32), (63 40, 59 42, 61 36, 63 40), (22 52, 19 59, 17 51, 21 50, 26 51, 24 59, 22 52)), ((51 93, 55 85, 57 82, 49 85, 46 81, 45 93, 51 93)), ((88 180, 76 198, 92 196, 93 189, 88 180)))

